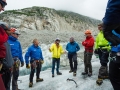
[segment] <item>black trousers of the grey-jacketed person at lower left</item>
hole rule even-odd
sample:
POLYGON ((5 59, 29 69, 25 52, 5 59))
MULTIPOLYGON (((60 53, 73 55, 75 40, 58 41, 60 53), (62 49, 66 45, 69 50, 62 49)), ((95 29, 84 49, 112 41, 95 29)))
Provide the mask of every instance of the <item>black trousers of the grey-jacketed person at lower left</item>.
POLYGON ((2 79, 3 79, 6 90, 10 90, 11 71, 8 69, 5 69, 5 72, 3 72, 2 74, 2 79))

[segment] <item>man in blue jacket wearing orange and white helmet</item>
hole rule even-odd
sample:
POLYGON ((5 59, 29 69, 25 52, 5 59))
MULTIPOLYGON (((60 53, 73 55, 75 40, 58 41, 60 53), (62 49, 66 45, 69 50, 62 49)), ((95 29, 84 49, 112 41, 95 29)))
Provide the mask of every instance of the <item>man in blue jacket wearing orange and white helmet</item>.
POLYGON ((13 65, 13 77, 12 77, 12 90, 18 89, 18 76, 19 76, 19 66, 21 62, 21 67, 24 66, 24 61, 22 57, 22 48, 21 44, 18 41, 18 37, 20 35, 19 31, 16 28, 11 28, 11 35, 9 36, 8 43, 11 47, 12 58, 14 60, 13 65))

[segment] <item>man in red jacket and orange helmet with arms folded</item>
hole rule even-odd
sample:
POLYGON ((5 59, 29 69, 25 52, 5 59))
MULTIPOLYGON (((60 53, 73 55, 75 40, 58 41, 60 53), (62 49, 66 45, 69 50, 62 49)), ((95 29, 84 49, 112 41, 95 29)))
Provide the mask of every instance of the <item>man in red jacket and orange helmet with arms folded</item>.
POLYGON ((82 75, 92 75, 92 64, 91 59, 93 55, 93 46, 94 46, 94 38, 91 35, 90 30, 85 31, 86 39, 82 42, 82 45, 85 47, 84 51, 84 65, 85 69, 82 75))

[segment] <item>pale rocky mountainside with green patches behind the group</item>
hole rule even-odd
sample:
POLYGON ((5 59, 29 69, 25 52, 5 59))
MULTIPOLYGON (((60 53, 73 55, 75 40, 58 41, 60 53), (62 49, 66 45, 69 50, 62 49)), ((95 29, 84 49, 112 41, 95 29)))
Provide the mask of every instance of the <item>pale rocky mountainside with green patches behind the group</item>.
POLYGON ((5 11, 0 15, 0 19, 20 30, 23 48, 31 44, 34 38, 47 44, 53 42, 56 37, 67 42, 73 36, 80 42, 86 29, 92 30, 93 35, 96 35, 97 24, 101 23, 77 13, 45 7, 5 11))

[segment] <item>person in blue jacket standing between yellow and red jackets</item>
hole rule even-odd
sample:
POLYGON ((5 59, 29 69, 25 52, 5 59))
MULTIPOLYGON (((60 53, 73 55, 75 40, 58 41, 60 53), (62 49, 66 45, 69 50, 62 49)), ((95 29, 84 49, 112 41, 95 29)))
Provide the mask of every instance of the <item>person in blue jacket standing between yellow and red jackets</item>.
POLYGON ((70 63, 70 71, 73 72, 73 75, 76 76, 77 71, 77 51, 80 50, 79 45, 74 41, 74 38, 70 38, 70 42, 66 46, 66 50, 68 51, 68 59, 70 63), (73 66, 74 62, 74 66, 73 66))

